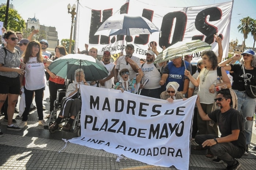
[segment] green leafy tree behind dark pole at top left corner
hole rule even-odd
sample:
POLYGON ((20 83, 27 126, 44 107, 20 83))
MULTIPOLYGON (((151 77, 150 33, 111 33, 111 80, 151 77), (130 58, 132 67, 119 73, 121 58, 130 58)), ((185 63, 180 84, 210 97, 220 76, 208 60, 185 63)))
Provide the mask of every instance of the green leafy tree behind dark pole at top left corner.
MULTIPOLYGON (((0 21, 2 22, 5 21, 5 11, 6 6, 2 6, 0 8, 0 21)), ((22 32, 22 29, 26 28, 25 20, 22 19, 17 10, 9 8, 7 27, 5 28, 7 31, 11 29, 15 32, 22 32)))

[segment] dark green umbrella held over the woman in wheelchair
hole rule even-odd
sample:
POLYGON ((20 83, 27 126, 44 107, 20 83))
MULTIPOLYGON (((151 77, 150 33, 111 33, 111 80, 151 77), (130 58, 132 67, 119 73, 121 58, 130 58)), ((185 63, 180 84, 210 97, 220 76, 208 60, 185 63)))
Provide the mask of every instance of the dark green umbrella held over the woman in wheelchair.
POLYGON ((48 67, 51 72, 64 79, 75 80, 75 70, 83 69, 86 81, 101 80, 108 76, 102 62, 85 54, 68 54, 54 60, 48 67))

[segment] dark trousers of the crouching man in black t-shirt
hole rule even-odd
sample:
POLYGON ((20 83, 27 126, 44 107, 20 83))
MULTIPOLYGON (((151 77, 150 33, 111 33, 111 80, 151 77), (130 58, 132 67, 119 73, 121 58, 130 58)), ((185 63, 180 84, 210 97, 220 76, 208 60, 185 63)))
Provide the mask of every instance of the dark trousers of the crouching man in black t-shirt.
MULTIPOLYGON (((196 135, 195 142, 198 145, 202 145, 202 143, 208 139, 218 138, 217 135, 196 135)), ((212 154, 220 158, 222 161, 227 163, 227 165, 234 165, 236 162, 235 158, 241 158, 244 155, 245 149, 242 147, 237 147, 231 142, 223 142, 216 143, 212 146, 206 146, 206 149, 211 150, 212 154)))

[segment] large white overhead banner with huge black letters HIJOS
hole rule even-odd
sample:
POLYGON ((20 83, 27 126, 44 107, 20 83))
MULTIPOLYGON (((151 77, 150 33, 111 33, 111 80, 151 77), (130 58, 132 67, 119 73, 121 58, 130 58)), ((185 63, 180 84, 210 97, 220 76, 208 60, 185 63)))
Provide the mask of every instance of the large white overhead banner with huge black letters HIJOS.
MULTIPOLYGON (((229 32, 233 3, 221 3, 198 7, 174 8, 151 5, 140 0, 111 0, 102 3, 102 0, 94 0, 94 3, 80 1, 76 19, 76 48, 84 48, 84 43, 98 49, 98 54, 108 50, 111 54, 124 52, 125 45, 134 44, 133 55, 145 58, 148 44, 157 42, 158 51, 162 46, 169 47, 178 41, 200 39, 212 46, 212 50, 218 53, 218 44, 214 34, 222 38, 223 57, 227 57, 229 49, 229 32), (94 35, 98 27, 112 15, 128 13, 135 16, 143 16, 152 21, 161 33, 154 32, 151 35, 137 36, 103 36, 94 35)), ((200 52, 193 54, 193 61, 197 62, 200 52)))

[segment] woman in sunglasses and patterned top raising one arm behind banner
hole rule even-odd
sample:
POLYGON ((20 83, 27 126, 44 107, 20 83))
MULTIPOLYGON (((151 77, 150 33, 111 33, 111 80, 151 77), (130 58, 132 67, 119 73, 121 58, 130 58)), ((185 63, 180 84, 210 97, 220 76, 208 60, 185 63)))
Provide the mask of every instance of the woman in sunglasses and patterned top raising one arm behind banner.
POLYGON ((142 80, 142 77, 144 74, 143 74, 141 68, 138 66, 138 64, 135 63, 132 59, 128 59, 127 63, 129 63, 131 65, 131 67, 137 68, 138 75, 130 80, 129 70, 126 68, 122 69, 119 72, 120 80, 119 80, 119 82, 116 83, 115 89, 121 90, 122 92, 128 91, 131 93, 136 93, 139 90, 140 81, 142 80))

